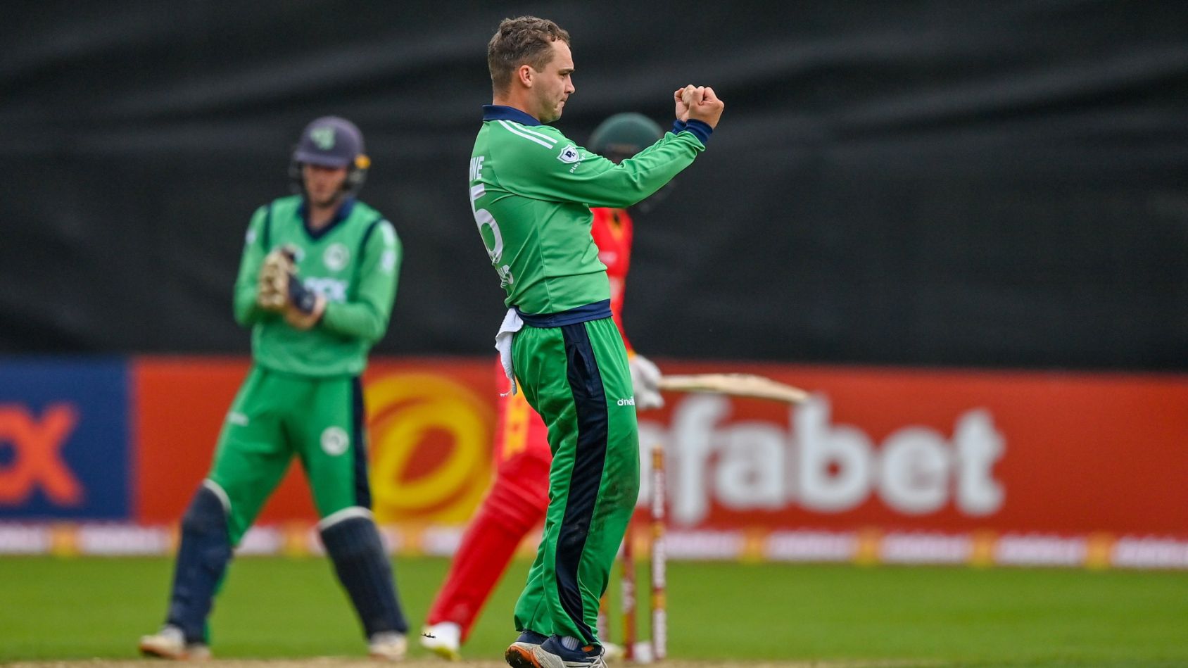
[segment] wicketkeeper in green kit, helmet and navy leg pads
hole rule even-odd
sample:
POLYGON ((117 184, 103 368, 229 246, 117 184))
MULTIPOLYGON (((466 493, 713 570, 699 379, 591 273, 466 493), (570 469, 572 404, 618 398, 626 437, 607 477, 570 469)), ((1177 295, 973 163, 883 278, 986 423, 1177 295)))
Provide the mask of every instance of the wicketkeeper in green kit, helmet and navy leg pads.
POLYGON ((392 225, 354 198, 368 166, 354 124, 320 118, 292 157, 301 195, 252 216, 234 311, 252 329, 253 365, 182 518, 165 625, 140 639, 146 655, 209 656, 207 617, 232 549, 295 458, 369 654, 405 654, 407 624, 372 521, 359 382, 387 329, 402 251, 392 225))

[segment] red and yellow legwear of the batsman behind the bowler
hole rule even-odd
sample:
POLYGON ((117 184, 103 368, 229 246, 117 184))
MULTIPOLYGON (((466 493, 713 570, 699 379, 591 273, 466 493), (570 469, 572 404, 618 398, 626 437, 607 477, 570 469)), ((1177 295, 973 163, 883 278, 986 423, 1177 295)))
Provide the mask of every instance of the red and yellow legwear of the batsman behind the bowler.
MULTIPOLYGON (((495 386, 506 392, 508 383, 499 360, 495 373, 495 386)), ((499 398, 494 454, 495 481, 470 519, 426 619, 428 624, 459 624, 463 642, 516 548, 544 522, 549 506, 552 453, 548 430, 523 393, 499 398)))

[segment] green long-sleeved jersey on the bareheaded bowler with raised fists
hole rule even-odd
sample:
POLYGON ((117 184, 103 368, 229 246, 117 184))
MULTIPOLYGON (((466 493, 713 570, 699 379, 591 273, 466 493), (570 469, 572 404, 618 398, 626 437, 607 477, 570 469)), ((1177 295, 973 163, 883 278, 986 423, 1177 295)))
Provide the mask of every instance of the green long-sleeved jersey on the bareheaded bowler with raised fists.
POLYGON ((552 314, 608 300, 590 207, 626 208, 647 197, 693 163, 703 140, 669 132, 617 165, 519 109, 486 105, 484 112, 470 157, 470 208, 505 303, 552 314))

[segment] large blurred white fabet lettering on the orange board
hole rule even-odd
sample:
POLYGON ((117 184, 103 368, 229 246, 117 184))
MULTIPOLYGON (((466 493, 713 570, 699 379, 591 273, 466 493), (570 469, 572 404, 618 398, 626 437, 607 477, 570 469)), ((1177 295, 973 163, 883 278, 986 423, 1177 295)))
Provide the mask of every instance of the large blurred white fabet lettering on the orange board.
MULTIPOLYGON (((1005 439, 991 414, 971 409, 953 435, 905 426, 879 447, 860 428, 830 424, 829 402, 816 396, 791 411, 791 426, 775 422, 721 424, 731 403, 690 397, 672 411, 669 427, 640 421, 639 442, 671 443, 669 479, 672 519, 696 524, 710 500, 735 511, 800 506, 843 512, 872 496, 904 515, 928 515, 953 504, 966 516, 1003 508, 1005 490, 994 464, 1005 439)), ((640 458, 645 464, 647 458, 640 458)), ((643 475, 647 481, 647 475, 643 475)), ((645 490, 646 491, 646 490, 645 490)), ((646 503, 647 493, 642 493, 646 503)))

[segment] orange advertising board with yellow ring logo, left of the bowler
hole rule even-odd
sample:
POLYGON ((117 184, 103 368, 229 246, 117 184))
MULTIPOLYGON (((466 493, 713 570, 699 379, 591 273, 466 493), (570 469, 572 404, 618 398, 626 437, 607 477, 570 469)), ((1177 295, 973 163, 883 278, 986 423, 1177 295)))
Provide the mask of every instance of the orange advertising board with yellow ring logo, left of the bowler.
MULTIPOLYGON (((138 358, 133 364, 135 519, 176 522, 210 466, 246 359, 138 358)), ((364 377, 372 497, 383 523, 461 524, 491 480, 489 364, 383 360, 364 377)), ((316 519, 293 462, 259 522, 316 519)))

